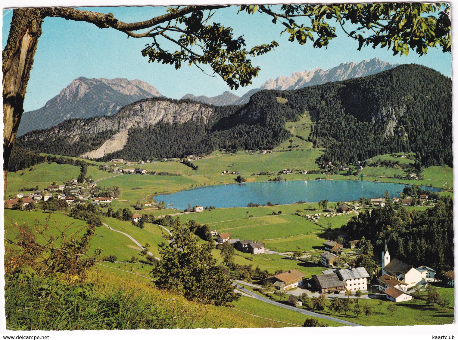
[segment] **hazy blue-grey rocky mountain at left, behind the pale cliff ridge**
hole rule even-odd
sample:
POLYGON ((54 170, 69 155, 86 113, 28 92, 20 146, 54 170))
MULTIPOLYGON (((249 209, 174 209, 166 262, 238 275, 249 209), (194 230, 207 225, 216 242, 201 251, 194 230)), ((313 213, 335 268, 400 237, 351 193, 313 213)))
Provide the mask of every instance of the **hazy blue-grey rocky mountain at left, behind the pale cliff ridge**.
POLYGON ((160 96, 154 86, 138 79, 79 77, 43 107, 24 112, 17 135, 51 128, 71 118, 114 115, 121 107, 134 101, 160 96))

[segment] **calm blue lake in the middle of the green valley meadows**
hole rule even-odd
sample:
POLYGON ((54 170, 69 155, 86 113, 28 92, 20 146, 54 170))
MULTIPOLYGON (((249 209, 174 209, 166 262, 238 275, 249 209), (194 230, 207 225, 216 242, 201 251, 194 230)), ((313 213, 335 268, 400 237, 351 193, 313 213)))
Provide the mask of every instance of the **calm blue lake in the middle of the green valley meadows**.
MULTIPOLYGON (((192 206, 215 206, 217 208, 246 207, 249 202, 261 205, 267 202, 290 204, 297 201, 329 202, 353 201, 360 197, 383 197, 385 190, 390 197, 398 197, 405 184, 371 181, 268 181, 241 184, 201 186, 194 189, 158 195, 156 202, 165 201, 174 208, 186 209, 192 206)), ((422 187, 433 192, 440 188, 422 187)))

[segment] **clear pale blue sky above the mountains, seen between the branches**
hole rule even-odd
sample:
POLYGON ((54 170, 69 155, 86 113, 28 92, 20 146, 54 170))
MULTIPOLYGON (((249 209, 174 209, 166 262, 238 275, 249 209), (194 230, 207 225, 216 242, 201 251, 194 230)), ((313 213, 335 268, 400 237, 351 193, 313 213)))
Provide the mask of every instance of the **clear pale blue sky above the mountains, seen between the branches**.
MULTIPOLYGON (((126 22, 141 21, 163 14, 165 7, 97 7, 85 8, 109 13, 126 22)), ((5 47, 12 11, 4 10, 2 26, 2 49, 5 47)), ((363 48, 357 51, 357 42, 338 34, 327 50, 313 48, 308 42, 303 46, 288 41, 286 34, 280 36, 281 25, 273 24, 265 15, 237 15, 237 7, 218 10, 212 21, 221 22, 234 29, 234 35, 244 35, 247 48, 276 40, 280 46, 264 56, 252 58, 252 64, 261 71, 250 86, 240 87, 234 94, 242 96, 252 88, 260 87, 269 78, 290 76, 294 71, 311 70, 316 67, 329 69, 343 62, 360 62, 375 57, 390 63, 422 64, 452 76, 452 57, 439 49, 428 50, 422 57, 411 52, 409 56, 393 56, 387 49, 363 48)), ((340 33, 338 31, 338 33, 340 33)), ((196 67, 183 65, 175 70, 172 65, 148 64, 141 50, 148 38, 129 38, 113 29, 99 29, 86 22, 67 21, 61 18, 45 18, 43 34, 38 41, 35 61, 27 86, 25 111, 38 109, 56 96, 71 80, 116 77, 140 79, 155 86, 161 94, 181 98, 186 93, 218 96, 230 90, 217 77, 209 77, 196 67)), ((207 73, 212 73, 206 68, 207 73)))

